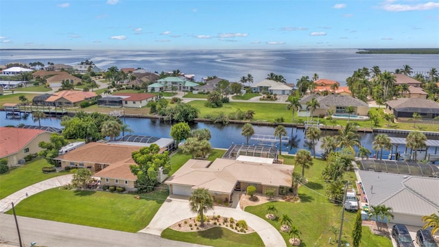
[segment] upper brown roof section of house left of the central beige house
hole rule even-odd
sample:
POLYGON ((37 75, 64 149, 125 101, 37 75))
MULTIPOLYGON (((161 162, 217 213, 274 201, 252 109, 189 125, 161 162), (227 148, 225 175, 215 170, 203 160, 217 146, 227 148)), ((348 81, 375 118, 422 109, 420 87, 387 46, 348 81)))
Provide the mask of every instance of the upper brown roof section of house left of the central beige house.
POLYGON ((134 151, 142 147, 132 145, 116 145, 108 143, 87 143, 67 154, 56 157, 60 161, 75 161, 112 165, 131 158, 134 151))

